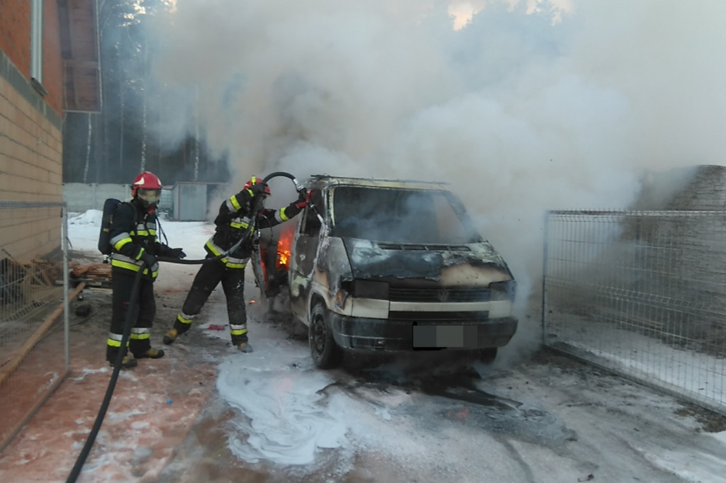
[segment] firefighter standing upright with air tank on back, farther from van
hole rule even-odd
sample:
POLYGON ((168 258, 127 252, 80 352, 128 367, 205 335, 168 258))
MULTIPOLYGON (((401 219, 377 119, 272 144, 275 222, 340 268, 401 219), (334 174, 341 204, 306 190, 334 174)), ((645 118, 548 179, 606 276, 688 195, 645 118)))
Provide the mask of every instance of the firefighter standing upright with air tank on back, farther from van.
MULTIPOLYGON (((151 347, 152 321, 156 315, 153 283, 158 275, 156 257, 184 258, 181 248, 169 248, 156 238, 156 206, 161 197, 158 176, 144 171, 131 185, 131 201, 116 207, 110 228, 111 287, 113 290, 111 327, 106 344, 106 360, 114 365, 118 352, 124 353, 121 368, 136 366, 136 359, 163 357, 164 351, 151 347), (123 326, 129 312, 136 273, 146 263, 139 284, 138 310, 131 321, 127 347, 121 347, 123 326), (131 355, 129 355, 131 352, 131 355)), ((131 307, 132 309, 134 307, 131 307)))

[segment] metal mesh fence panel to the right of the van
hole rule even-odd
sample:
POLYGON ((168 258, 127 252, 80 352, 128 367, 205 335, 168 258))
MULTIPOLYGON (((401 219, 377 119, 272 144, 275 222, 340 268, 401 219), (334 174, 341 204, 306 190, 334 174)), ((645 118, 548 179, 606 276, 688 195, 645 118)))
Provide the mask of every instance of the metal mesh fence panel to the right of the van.
POLYGON ((544 344, 726 414, 726 211, 553 211, 544 344))

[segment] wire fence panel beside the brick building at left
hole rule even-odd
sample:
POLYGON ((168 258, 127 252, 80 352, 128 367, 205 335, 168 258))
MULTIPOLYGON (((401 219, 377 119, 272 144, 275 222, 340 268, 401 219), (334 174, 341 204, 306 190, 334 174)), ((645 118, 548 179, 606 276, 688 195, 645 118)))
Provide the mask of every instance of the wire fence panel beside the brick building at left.
POLYGON ((0 451, 68 374, 67 218, 0 201, 0 451))

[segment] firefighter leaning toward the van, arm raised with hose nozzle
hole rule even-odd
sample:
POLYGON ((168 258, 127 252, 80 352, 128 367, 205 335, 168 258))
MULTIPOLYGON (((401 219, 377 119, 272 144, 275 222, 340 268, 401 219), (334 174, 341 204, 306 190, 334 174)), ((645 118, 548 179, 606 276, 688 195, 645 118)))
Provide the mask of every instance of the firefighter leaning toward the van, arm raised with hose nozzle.
MULTIPOLYGON (((208 258, 218 257, 234 247, 234 244, 248 233, 254 217, 257 217, 256 226, 276 226, 298 215, 307 205, 306 193, 301 191, 298 200, 287 207, 280 210, 265 209, 264 199, 269 194, 269 186, 261 178, 253 176, 242 191, 222 202, 219 214, 214 220, 216 225, 214 235, 204 246, 208 258), (260 207, 261 211, 255 213, 253 207, 260 207)), ((200 267, 187 294, 187 300, 176 316, 174 326, 164 336, 164 344, 173 343, 176 337, 189 330, 193 319, 200 313, 212 291, 221 282, 224 295, 227 297, 227 316, 232 345, 242 352, 252 352, 247 334, 247 313, 243 292, 245 266, 250 259, 252 249, 253 236, 250 236, 228 256, 200 267)))

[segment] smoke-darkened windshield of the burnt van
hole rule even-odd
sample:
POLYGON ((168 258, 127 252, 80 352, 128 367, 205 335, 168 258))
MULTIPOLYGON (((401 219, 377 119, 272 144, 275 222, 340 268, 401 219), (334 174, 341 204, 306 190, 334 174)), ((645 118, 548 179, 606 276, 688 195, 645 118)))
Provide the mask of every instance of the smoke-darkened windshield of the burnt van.
POLYGON ((333 234, 416 244, 465 244, 481 236, 449 191, 336 186, 333 234))

